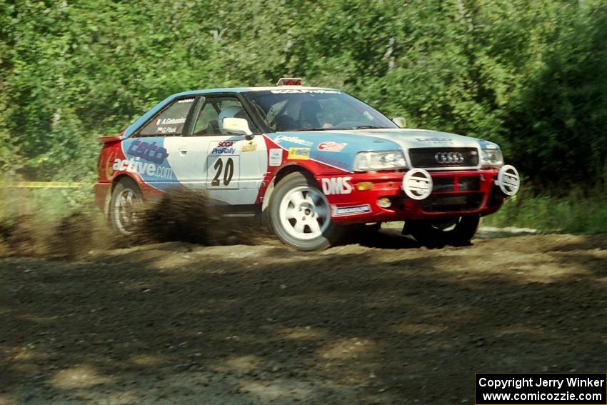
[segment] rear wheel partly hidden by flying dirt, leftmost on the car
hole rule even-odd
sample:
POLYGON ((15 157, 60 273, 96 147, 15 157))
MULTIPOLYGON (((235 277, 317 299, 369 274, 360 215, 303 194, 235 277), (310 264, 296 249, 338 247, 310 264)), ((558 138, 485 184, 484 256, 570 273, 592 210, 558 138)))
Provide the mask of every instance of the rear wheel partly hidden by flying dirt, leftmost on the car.
POLYGON ((135 181, 121 179, 111 193, 109 221, 111 229, 121 236, 131 236, 136 229, 136 216, 144 199, 135 181))

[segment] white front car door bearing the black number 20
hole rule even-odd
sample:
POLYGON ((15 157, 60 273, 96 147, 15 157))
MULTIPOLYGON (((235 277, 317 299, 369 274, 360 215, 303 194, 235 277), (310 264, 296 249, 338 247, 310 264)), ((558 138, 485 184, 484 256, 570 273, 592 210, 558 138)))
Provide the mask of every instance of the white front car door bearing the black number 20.
POLYGON ((213 204, 254 204, 267 166, 265 142, 261 135, 224 134, 219 119, 226 109, 240 109, 247 118, 236 96, 208 95, 199 101, 189 136, 171 142, 171 166, 180 184, 206 189, 213 204))

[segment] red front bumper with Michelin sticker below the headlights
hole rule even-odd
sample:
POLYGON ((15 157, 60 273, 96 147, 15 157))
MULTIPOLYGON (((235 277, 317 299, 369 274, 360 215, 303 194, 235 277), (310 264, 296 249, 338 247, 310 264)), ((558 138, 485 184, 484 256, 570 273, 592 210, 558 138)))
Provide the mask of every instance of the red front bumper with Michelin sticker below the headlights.
MULTIPOLYGON (((403 173, 351 174, 348 194, 327 195, 331 219, 361 223, 484 216, 497 211, 506 199, 496 185, 497 170, 431 171, 430 175, 433 181, 430 196, 413 200, 403 191, 403 173)), ((321 176, 317 180, 322 184, 323 179, 331 177, 338 178, 321 176)))

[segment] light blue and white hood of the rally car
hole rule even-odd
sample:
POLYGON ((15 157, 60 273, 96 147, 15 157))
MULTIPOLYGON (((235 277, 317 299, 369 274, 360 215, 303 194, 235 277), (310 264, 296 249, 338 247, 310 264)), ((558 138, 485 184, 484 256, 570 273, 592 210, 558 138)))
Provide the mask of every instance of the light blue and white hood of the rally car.
POLYGON ((352 171, 354 156, 361 151, 436 147, 479 148, 479 139, 426 129, 356 129, 335 131, 284 131, 267 134, 284 149, 309 148, 310 159, 352 171))

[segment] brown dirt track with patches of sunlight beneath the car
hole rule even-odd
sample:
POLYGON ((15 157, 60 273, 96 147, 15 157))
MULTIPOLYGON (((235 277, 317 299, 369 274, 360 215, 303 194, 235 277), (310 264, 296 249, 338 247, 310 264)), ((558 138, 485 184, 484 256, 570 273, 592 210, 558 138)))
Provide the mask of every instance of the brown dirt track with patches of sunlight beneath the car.
POLYGON ((470 404, 475 371, 606 371, 606 235, 366 245, 3 259, 0 404, 470 404))

